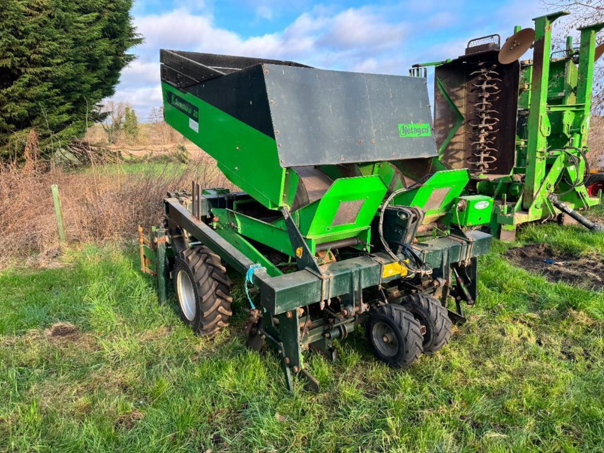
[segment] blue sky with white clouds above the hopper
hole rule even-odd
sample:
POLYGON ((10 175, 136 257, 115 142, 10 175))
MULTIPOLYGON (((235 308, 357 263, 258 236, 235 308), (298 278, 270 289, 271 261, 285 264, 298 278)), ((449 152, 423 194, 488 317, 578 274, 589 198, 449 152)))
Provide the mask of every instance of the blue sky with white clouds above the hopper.
POLYGON ((112 100, 131 104, 142 121, 161 106, 160 48, 406 75, 413 63, 463 54, 473 37, 504 40, 544 13, 539 0, 138 0, 145 43, 112 100))

